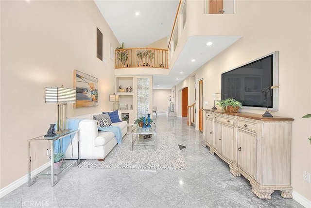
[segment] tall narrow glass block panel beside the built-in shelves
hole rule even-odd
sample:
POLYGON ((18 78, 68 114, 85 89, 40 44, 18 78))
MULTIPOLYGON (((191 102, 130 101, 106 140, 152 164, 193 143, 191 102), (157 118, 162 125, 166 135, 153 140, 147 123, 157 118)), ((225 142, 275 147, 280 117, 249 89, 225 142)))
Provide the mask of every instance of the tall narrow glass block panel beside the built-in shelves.
POLYGON ((137 117, 149 113, 149 78, 137 78, 137 117))

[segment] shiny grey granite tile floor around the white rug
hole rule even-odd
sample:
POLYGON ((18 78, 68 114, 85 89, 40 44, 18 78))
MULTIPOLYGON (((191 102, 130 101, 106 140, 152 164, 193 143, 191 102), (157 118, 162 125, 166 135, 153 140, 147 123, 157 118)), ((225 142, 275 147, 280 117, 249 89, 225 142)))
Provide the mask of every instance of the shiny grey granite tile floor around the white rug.
POLYGON ((202 146, 202 132, 186 118, 158 113, 157 131, 173 132, 187 170, 86 169, 75 166, 51 187, 39 178, 0 199, 1 208, 303 208, 280 191, 260 200, 244 177, 234 177, 228 165, 202 146))

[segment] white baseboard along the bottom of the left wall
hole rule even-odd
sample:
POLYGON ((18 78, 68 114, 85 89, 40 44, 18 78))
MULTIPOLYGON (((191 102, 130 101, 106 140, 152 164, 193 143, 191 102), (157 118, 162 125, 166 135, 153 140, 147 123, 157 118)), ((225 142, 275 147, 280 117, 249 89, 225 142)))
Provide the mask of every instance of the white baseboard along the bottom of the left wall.
MULTIPOLYGON (((46 164, 42 165, 41 167, 33 170, 31 172, 31 174, 32 175, 37 175, 38 173, 41 173, 46 168, 48 168, 50 165, 51 165, 51 162, 47 162, 46 164)), ((23 185, 26 182, 28 182, 28 173, 26 175, 24 175, 23 177, 17 179, 16 181, 14 181, 13 183, 11 183, 11 184, 7 185, 6 187, 2 188, 0 190, 0 198, 5 196, 6 194, 10 193, 11 191, 14 191, 15 189, 17 189, 18 187, 20 187, 21 185, 23 185)))

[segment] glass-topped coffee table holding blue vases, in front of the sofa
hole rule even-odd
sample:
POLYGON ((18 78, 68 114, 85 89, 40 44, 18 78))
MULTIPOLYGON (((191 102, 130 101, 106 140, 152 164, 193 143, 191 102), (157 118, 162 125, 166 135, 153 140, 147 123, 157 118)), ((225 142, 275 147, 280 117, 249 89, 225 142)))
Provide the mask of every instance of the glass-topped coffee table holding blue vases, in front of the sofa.
POLYGON ((154 127, 142 128, 137 126, 131 131, 130 150, 134 145, 152 145, 156 150, 156 131, 154 127))

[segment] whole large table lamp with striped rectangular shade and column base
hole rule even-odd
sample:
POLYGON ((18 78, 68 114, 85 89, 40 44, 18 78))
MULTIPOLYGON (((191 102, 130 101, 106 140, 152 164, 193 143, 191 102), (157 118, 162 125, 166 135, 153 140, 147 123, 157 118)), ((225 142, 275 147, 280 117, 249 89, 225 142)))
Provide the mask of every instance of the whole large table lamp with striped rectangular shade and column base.
POLYGON ((45 103, 57 104, 56 133, 68 131, 66 129, 67 104, 76 103, 76 90, 62 87, 46 87, 45 103))

